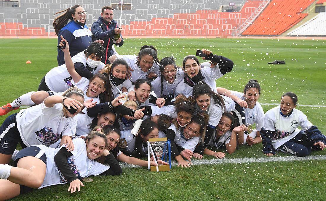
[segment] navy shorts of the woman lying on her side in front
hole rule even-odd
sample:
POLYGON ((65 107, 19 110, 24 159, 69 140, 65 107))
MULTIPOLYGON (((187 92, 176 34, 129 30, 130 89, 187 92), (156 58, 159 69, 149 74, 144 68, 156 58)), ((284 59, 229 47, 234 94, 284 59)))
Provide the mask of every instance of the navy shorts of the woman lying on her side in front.
MULTIPOLYGON (((41 149, 36 146, 30 146, 30 147, 20 150, 14 159, 15 166, 17 167, 17 163, 18 163, 19 159, 21 159, 25 156, 37 156, 37 158, 41 159, 41 161, 43 161, 46 166, 46 155, 45 154, 42 154, 41 156, 37 155, 40 151, 41 151, 41 149)), ((31 187, 20 185, 20 194, 28 193, 32 190, 33 190, 33 188, 31 188, 31 187)))

